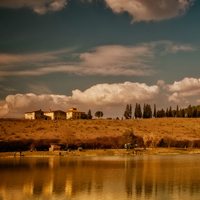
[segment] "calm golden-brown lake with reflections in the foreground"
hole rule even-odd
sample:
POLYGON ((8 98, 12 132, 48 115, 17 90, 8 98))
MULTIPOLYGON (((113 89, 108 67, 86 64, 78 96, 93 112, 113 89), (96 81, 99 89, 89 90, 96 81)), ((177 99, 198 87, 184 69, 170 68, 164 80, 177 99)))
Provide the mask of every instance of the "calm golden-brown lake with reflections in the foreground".
POLYGON ((0 200, 196 200, 200 155, 0 159, 0 200))

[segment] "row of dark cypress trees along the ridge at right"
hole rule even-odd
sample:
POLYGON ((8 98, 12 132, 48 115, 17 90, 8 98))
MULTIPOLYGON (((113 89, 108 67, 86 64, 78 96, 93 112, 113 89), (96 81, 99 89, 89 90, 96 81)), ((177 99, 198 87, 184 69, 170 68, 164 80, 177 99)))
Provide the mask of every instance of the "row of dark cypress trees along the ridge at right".
POLYGON ((195 118, 200 117, 200 105, 191 106, 189 105, 187 108, 179 108, 177 105, 176 110, 172 110, 172 107, 163 108, 160 110, 156 109, 156 104, 154 104, 153 110, 150 104, 144 104, 143 109, 140 104, 136 103, 135 111, 132 112, 132 105, 127 104, 124 111, 125 119, 140 119, 140 118, 161 118, 161 117, 188 117, 195 118))

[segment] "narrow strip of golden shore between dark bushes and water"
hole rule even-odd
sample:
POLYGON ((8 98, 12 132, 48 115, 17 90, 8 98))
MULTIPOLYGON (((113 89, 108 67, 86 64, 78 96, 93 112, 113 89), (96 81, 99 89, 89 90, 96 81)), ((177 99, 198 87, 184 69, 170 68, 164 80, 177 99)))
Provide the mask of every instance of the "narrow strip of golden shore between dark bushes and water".
POLYGON ((137 155, 178 155, 200 154, 197 148, 136 148, 136 149, 84 149, 82 151, 23 151, 0 152, 0 158, 31 158, 31 157, 90 157, 90 156, 137 156, 137 155))

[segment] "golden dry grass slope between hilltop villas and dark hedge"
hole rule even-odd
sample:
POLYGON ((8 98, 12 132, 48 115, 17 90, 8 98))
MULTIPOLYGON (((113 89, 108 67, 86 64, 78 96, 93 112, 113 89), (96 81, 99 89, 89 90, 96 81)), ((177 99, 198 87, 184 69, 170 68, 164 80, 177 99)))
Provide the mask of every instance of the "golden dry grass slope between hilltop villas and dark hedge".
POLYGON ((66 140, 69 135, 79 140, 98 137, 118 137, 125 129, 136 136, 148 138, 170 137, 174 140, 199 140, 200 118, 157 118, 136 120, 21 120, 0 119, 0 141, 10 140, 66 140))

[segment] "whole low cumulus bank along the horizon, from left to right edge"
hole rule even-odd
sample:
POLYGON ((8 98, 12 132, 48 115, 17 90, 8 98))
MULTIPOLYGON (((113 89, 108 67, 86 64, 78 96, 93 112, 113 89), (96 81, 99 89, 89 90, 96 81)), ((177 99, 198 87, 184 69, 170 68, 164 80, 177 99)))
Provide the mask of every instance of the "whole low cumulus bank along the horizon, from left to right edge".
POLYGON ((187 107, 200 102, 200 79, 184 78, 173 84, 165 84, 158 80, 157 85, 145 83, 124 82, 115 84, 97 84, 85 91, 78 89, 72 91, 71 96, 33 93, 8 95, 0 101, 1 117, 23 117, 24 112, 36 109, 61 109, 68 110, 75 106, 79 110, 93 113, 101 109, 105 117, 121 117, 126 104, 136 103, 143 105, 149 103, 157 108, 166 108, 178 104, 187 107))

